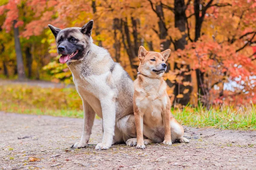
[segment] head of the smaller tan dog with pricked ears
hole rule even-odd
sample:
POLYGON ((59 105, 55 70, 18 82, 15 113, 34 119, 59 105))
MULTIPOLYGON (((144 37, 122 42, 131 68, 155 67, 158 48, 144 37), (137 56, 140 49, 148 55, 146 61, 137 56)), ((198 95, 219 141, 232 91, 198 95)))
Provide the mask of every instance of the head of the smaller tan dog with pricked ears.
POLYGON ((166 60, 170 53, 170 49, 159 53, 154 51, 147 51, 143 46, 140 46, 140 66, 138 68, 140 74, 151 78, 162 77, 166 71, 166 60))

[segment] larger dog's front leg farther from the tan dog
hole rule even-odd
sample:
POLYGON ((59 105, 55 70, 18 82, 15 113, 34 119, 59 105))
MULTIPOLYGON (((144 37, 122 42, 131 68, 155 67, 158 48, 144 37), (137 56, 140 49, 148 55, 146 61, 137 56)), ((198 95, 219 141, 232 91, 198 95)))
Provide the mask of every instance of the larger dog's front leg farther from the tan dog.
POLYGON ((91 106, 83 99, 83 108, 84 108, 84 128, 83 128, 83 133, 80 139, 80 142, 76 142, 71 146, 71 148, 81 148, 81 147, 86 147, 90 135, 92 133, 92 127, 93 127, 93 122, 95 118, 95 112, 91 108, 91 106))

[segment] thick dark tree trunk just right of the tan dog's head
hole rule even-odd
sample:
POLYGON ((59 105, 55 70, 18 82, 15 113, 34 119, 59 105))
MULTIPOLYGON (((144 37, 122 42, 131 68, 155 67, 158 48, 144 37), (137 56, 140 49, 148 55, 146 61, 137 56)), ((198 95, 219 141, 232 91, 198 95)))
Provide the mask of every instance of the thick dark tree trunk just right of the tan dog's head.
MULTIPOLYGON (((183 50, 185 48, 185 45, 187 44, 186 37, 187 34, 186 31, 186 6, 184 0, 175 0, 174 3, 174 12, 175 12, 175 27, 180 30, 181 33, 183 33, 183 36, 179 40, 175 40, 175 50, 181 49, 183 50)), ((186 67, 186 71, 182 71, 179 76, 183 77, 182 82, 191 82, 191 74, 186 75, 186 72, 190 71, 189 65, 180 65, 180 68, 186 67)), ((175 69, 179 69, 177 63, 175 63, 174 66, 175 69)), ((177 84, 174 89, 175 96, 178 94, 182 94, 183 98, 176 99, 177 103, 180 103, 181 105, 187 105, 189 103, 190 94, 192 92, 192 86, 184 86, 182 84, 177 84), (183 93, 185 89, 189 89, 188 93, 183 93)))

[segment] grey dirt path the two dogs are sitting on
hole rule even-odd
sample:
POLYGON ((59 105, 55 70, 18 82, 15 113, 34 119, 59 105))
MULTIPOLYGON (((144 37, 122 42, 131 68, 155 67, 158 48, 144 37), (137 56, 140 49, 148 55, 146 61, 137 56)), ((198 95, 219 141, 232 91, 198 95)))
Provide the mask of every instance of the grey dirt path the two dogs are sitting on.
MULTIPOLYGON (((79 141, 82 122, 0 112, 0 169, 256 169, 256 131, 186 128, 189 144, 70 149, 79 141)), ((101 137, 101 122, 95 120, 89 143, 97 144, 101 137)))

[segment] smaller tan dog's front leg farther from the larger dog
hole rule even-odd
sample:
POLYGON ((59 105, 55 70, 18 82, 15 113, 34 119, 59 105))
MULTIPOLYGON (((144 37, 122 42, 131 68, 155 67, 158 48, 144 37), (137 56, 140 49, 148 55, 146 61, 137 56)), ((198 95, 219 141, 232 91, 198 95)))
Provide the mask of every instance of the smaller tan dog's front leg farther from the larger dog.
MULTIPOLYGON (((168 104, 167 104, 168 105, 168 104)), ((166 106, 166 110, 163 111, 163 123, 164 123, 164 141, 163 144, 172 145, 171 137, 171 111, 169 105, 166 106)))

